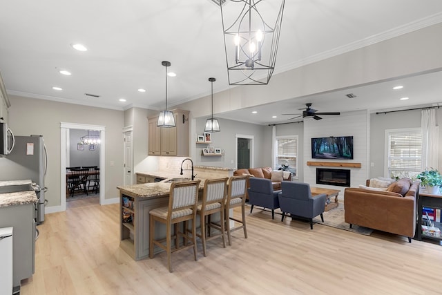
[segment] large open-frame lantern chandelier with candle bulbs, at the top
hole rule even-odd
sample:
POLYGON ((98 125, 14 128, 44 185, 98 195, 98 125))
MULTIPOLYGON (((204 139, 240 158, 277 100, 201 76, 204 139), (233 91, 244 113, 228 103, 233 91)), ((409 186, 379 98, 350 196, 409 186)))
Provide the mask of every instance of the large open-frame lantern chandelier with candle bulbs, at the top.
POLYGON ((267 85, 275 69, 285 0, 229 2, 220 5, 229 84, 267 85))

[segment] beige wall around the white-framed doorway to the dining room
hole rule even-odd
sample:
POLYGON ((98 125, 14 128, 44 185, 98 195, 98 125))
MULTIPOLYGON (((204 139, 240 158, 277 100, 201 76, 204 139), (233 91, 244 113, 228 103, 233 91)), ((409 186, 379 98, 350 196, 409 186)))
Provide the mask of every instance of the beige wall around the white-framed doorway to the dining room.
POLYGON ((10 95, 10 128, 17 135, 44 135, 48 149, 48 172, 46 174, 47 207, 61 204, 61 155, 60 122, 99 125, 106 127, 106 187, 104 198, 119 196, 117 185, 123 181, 123 135, 124 112, 65 104, 44 99, 10 95))

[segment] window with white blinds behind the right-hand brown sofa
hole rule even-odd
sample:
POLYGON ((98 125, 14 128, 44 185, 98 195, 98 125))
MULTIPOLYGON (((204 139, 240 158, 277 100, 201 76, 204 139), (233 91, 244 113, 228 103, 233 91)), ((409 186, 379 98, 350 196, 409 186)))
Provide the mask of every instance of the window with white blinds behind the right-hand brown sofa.
POLYGON ((422 169, 422 131, 391 129, 385 131, 387 146, 387 175, 412 178, 422 169))

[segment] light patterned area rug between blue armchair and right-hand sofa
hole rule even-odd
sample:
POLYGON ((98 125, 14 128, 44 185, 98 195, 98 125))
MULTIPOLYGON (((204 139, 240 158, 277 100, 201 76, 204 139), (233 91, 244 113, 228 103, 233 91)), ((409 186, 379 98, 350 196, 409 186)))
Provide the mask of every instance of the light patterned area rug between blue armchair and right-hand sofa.
POLYGON ((323 216, 324 216, 324 222, 320 220, 320 216, 316 216, 316 218, 313 218, 313 221, 321 225, 327 225, 327 227, 344 229, 345 231, 352 231, 356 234, 363 234, 365 236, 369 236, 373 232, 373 229, 369 229, 367 227, 360 227, 358 225, 353 225, 352 228, 350 229, 350 225, 344 221, 343 204, 339 204, 339 206, 336 207, 335 209, 324 212, 323 216))

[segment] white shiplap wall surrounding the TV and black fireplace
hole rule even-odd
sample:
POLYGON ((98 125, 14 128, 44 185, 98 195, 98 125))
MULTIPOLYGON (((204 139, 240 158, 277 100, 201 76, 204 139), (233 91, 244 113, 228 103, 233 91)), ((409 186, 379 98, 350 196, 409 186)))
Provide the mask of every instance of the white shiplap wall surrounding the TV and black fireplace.
MULTIPOLYGON (((365 184, 369 178, 369 126, 370 115, 368 111, 356 111, 352 113, 341 113, 339 116, 322 116, 323 120, 304 120, 304 182, 311 187, 324 187, 327 189, 340 189, 342 192, 345 187, 337 187, 326 184, 316 184, 316 168, 318 166, 311 164, 316 159, 311 158, 311 138, 329 137, 329 136, 353 136, 353 160, 324 160, 321 159, 321 166, 329 169, 341 169, 338 163, 356 163, 350 169, 351 183, 350 187, 358 187, 359 184, 365 184), (307 165, 307 162, 310 164, 307 165), (325 162, 325 164, 323 164, 325 162), (327 163, 331 163, 327 166, 327 163)), ((340 194, 343 196, 343 193, 340 194)))

